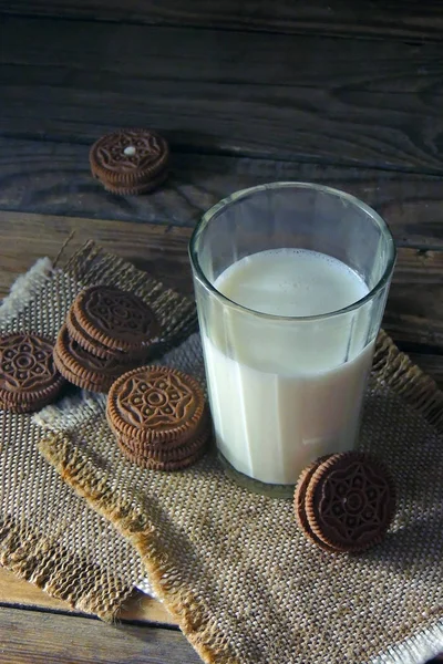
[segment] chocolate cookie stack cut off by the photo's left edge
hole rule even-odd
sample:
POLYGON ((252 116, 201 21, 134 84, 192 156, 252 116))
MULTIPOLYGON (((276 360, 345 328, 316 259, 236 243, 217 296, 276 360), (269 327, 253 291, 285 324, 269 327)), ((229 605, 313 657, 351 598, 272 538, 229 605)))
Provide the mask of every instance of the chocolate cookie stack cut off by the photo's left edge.
POLYGON ((0 408, 32 413, 52 402, 64 384, 53 345, 37 334, 0 338, 0 408))

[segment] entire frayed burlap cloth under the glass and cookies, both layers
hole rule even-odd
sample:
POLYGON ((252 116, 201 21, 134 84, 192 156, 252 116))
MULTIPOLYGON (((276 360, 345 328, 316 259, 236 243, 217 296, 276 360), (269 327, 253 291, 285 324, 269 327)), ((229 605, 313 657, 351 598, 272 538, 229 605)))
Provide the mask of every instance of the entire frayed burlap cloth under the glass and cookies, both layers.
MULTIPOLYGON (((136 287, 152 300, 145 274, 92 253, 64 271, 37 267, 1 326, 54 336, 84 283, 136 287)), ((162 297, 174 344, 192 330, 193 312, 162 297)), ((164 362, 203 380, 198 335, 164 362)), ((443 394, 385 335, 360 445, 391 466, 399 509, 384 542, 359 556, 311 546, 290 500, 237 487, 214 454, 183 473, 137 469, 119 453, 104 405, 73 391, 33 418, 3 415, 3 564, 104 619, 147 571, 212 663, 419 664, 443 650, 443 394)))

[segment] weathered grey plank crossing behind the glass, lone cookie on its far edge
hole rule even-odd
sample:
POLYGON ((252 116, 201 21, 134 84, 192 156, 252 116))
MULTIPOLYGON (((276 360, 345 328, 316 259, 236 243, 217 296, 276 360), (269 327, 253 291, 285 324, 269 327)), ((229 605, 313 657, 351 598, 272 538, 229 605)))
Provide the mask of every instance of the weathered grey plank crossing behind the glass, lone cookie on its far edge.
POLYGON ((89 146, 0 138, 0 209, 193 227, 233 191, 305 180, 353 194, 389 222, 399 246, 443 247, 441 178, 370 168, 174 154, 172 176, 150 196, 113 196, 90 174, 89 146))

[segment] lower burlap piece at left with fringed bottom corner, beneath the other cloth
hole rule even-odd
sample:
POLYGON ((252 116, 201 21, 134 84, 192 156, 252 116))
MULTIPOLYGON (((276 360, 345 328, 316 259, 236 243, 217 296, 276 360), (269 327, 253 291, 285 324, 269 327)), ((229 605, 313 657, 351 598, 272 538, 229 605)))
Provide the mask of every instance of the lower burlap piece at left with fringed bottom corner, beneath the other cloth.
MULTIPOLYGON (((63 271, 40 260, 20 278, 0 308, 0 330, 54 339, 75 294, 101 282, 124 286, 151 303, 162 323, 163 349, 195 329, 187 299, 87 245, 63 271)), ((31 415, 0 411, 0 432, 1 564, 75 609, 112 620, 146 575, 141 556, 44 460, 38 450, 44 432, 31 415)))

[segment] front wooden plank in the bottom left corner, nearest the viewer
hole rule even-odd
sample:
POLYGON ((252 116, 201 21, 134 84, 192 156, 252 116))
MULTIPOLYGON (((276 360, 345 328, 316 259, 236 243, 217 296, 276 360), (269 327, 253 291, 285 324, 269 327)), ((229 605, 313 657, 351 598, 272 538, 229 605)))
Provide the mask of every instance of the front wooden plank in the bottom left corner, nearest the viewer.
POLYGON ((173 630, 112 626, 97 620, 0 608, 0 663, 197 664, 185 637, 173 630))

